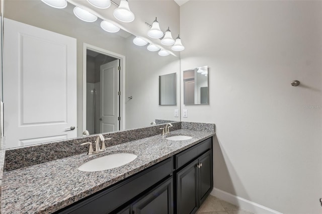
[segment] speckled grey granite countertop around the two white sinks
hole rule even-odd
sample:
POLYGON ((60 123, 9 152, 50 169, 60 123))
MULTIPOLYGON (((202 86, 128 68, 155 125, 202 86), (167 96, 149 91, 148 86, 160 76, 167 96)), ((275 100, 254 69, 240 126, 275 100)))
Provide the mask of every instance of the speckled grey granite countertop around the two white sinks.
POLYGON ((193 138, 170 141, 164 136, 155 135, 107 147, 106 152, 97 155, 83 153, 4 172, 2 213, 52 213, 165 160, 214 133, 181 129, 168 136, 171 135, 189 135, 193 138), (88 160, 118 152, 133 153, 137 158, 126 165, 104 171, 83 172, 77 169, 88 160))

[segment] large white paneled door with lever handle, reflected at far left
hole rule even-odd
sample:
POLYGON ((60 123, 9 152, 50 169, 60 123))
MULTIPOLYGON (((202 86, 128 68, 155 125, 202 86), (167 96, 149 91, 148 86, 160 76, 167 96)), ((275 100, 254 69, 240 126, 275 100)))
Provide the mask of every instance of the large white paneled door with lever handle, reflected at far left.
POLYGON ((76 39, 4 26, 5 148, 76 137, 76 39))

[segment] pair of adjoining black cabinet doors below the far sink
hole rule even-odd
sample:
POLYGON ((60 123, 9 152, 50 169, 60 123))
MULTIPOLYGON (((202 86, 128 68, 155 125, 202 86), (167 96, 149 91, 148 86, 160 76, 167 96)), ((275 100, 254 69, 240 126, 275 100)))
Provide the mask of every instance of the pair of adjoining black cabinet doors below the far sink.
POLYGON ((176 173, 177 213, 195 213, 213 188, 212 150, 176 173))

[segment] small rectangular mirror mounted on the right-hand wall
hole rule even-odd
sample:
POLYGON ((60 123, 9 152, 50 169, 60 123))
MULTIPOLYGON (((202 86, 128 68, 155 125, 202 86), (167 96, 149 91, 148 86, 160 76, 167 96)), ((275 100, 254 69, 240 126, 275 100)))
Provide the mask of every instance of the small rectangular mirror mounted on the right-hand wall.
POLYGON ((209 104, 208 66, 183 72, 184 104, 209 104))

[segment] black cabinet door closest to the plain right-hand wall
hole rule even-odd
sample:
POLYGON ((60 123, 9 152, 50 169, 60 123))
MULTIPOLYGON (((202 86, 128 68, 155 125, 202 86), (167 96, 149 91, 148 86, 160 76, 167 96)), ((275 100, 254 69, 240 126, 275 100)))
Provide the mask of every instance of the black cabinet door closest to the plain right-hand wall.
POLYGON ((199 205, 206 199, 213 188, 212 150, 199 157, 198 200, 199 205))

